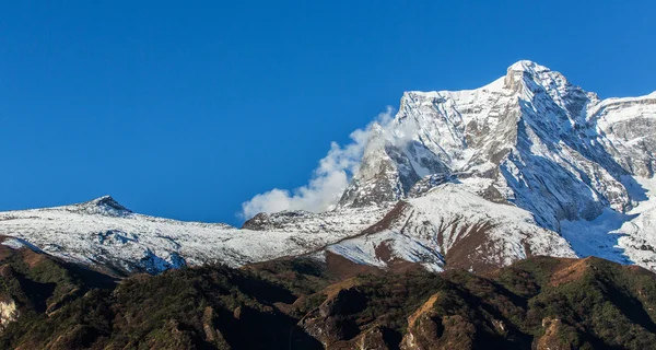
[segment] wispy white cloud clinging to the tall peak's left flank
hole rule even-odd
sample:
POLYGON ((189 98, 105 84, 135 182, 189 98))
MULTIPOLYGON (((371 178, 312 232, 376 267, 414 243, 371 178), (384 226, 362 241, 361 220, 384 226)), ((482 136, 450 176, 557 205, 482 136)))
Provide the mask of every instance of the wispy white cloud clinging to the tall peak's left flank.
POLYGON ((386 112, 379 114, 365 129, 351 132, 352 142, 345 147, 332 142, 328 154, 319 161, 307 185, 292 191, 273 188, 243 202, 242 218, 248 219, 259 212, 271 213, 283 210, 312 212, 331 210, 349 185, 351 176, 358 171, 372 128, 377 125, 386 129, 393 120, 393 114, 394 108, 388 106, 386 112))

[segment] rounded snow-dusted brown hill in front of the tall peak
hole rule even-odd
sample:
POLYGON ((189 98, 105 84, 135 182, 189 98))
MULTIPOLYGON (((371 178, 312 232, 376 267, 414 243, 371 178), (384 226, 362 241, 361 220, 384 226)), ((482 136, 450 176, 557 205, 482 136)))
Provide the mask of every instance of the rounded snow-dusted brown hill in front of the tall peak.
POLYGON ((558 233, 538 226, 530 212, 453 183, 399 202, 384 223, 327 250, 374 266, 412 261, 431 270, 448 266, 471 271, 530 255, 576 256, 558 233))

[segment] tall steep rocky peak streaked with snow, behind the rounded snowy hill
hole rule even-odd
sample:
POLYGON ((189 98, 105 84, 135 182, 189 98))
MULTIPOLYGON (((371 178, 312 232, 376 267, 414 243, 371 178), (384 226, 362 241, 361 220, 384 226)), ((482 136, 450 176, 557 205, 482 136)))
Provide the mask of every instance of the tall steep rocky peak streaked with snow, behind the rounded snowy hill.
POLYGON ((653 176, 655 116, 656 95, 599 101, 530 61, 477 90, 408 92, 339 205, 417 196, 422 178, 453 175, 557 230, 560 220, 631 207, 621 176, 653 176))

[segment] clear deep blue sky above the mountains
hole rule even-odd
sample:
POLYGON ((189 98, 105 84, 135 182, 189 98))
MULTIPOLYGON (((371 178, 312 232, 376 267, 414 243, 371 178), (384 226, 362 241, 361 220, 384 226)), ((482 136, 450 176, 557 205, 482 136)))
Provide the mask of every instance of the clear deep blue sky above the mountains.
POLYGON ((403 91, 519 59, 602 97, 656 90, 653 1, 3 1, 0 210, 109 194, 239 224, 403 91))

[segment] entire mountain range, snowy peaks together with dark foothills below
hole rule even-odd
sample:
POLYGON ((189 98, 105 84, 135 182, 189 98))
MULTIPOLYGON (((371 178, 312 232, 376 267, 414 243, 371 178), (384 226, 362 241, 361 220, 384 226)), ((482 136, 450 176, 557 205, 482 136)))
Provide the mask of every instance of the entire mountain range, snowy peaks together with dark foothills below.
POLYGON ((366 135, 325 212, 0 212, 0 349, 656 348, 656 92, 519 61, 366 135))

